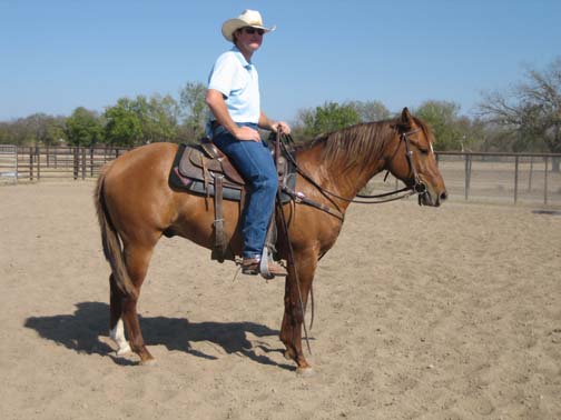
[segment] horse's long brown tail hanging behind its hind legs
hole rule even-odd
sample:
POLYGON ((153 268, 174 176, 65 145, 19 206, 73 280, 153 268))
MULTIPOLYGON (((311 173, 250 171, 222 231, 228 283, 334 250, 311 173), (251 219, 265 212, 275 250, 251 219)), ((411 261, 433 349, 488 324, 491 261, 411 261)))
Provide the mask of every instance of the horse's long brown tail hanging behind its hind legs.
POLYGON ((111 271, 117 283, 117 287, 126 297, 135 298, 137 291, 125 267, 125 259, 122 257, 121 242, 119 234, 115 229, 111 221, 109 211, 107 210, 107 201, 105 197, 105 181, 107 170, 110 163, 107 164, 97 180, 96 192, 94 200, 96 202, 96 210, 101 229, 101 243, 104 244, 104 254, 106 260, 111 266, 111 271))

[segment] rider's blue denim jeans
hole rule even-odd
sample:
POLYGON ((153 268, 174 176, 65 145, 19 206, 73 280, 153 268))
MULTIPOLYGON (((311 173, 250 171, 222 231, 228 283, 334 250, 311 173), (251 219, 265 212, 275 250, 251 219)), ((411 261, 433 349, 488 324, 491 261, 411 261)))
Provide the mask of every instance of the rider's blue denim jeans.
MULTIPOLYGON (((257 130, 257 124, 238 123, 257 130)), ((242 213, 244 258, 260 257, 278 188, 275 162, 267 144, 237 140, 224 127, 214 130, 213 142, 230 159, 246 181, 247 200, 242 213)))

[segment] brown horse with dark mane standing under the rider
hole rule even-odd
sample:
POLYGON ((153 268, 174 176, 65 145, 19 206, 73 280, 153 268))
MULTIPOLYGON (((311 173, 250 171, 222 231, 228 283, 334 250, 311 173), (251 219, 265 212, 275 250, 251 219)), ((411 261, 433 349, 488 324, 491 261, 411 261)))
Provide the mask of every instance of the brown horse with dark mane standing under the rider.
MULTIPOLYGON (((421 192, 421 204, 440 206, 446 191, 436 167, 432 140, 427 127, 405 108, 401 118, 395 120, 346 128, 296 150, 295 160, 301 174, 295 190, 308 202, 324 208, 306 206, 302 201, 283 207, 294 267, 289 268, 286 278, 280 340, 286 347, 285 356, 296 362, 298 371, 311 370, 302 350, 303 308, 317 262, 333 247, 341 231, 350 204, 345 198, 354 198, 374 174, 387 169, 421 192)), ((154 247, 161 236, 181 236, 205 248, 213 246, 213 200, 176 191, 168 184, 177 150, 177 144, 152 143, 125 153, 107 164, 96 189, 104 252, 111 266, 111 337, 119 346, 119 354, 131 349, 140 357, 141 363, 154 360, 145 346, 137 316, 140 288, 154 247)), ((225 201, 224 216, 229 246, 239 256, 239 203, 225 201)), ((282 232, 279 220, 277 224, 282 232)), ((279 256, 287 259, 288 250, 286 237, 284 240, 280 237, 279 256)))

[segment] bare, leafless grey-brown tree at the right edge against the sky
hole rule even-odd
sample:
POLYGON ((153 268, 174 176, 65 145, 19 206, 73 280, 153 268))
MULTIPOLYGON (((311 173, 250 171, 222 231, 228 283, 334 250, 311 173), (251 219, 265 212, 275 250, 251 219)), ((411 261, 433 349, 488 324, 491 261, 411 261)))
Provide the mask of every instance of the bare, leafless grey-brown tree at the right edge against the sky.
POLYGON ((515 134, 514 150, 561 153, 561 57, 542 71, 526 68, 524 81, 504 92, 484 93, 479 110, 488 123, 515 134))

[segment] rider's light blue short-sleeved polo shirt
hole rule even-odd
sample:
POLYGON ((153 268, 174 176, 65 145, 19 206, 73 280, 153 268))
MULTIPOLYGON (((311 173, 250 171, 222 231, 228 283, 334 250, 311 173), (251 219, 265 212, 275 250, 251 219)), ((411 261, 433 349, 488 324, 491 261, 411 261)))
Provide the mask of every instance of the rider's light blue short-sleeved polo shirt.
MULTIPOLYGON (((224 94, 226 107, 235 122, 259 121, 259 76, 255 66, 247 62, 237 47, 234 46, 218 57, 208 77, 208 89, 224 94)), ((214 116, 210 118, 214 119, 214 116)))

